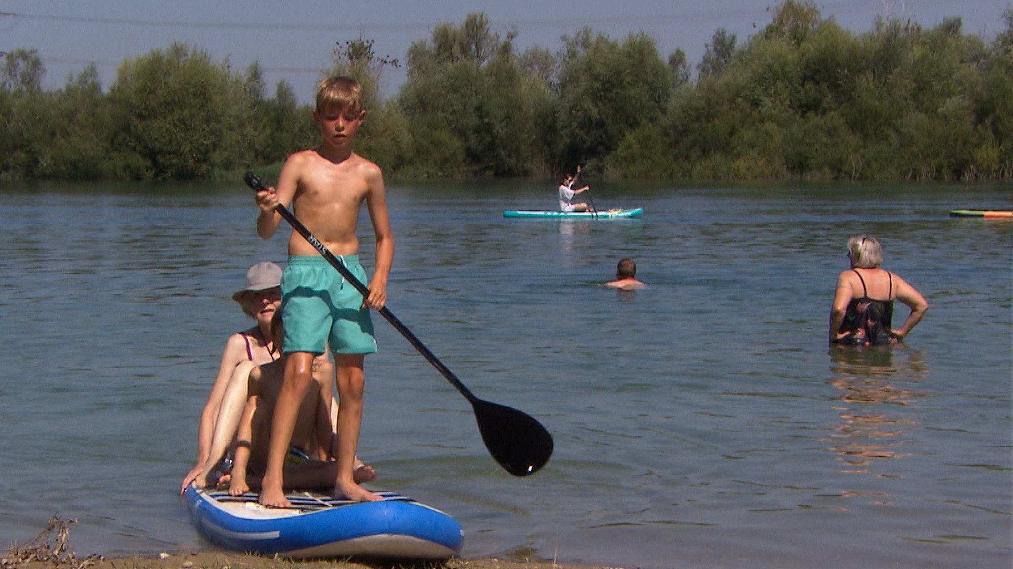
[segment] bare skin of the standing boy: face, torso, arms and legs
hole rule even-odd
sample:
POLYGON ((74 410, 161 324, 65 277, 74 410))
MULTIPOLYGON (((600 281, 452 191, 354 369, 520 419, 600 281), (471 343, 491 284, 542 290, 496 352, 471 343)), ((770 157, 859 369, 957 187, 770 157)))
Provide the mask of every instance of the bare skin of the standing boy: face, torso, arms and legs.
MULTIPOLYGON (((323 90, 318 91, 318 108, 313 111, 321 144, 314 150, 289 156, 282 168, 277 189, 257 191, 256 202, 260 211, 256 220, 257 234, 263 239, 271 237, 282 221, 278 207, 291 205, 295 217, 331 253, 337 256, 358 255, 356 226, 359 211, 365 201, 376 236, 376 263, 368 284, 369 294, 363 299, 363 304, 380 310, 387 300, 387 275, 394 257, 394 238, 387 214, 383 174, 376 164, 352 151, 352 142, 366 115, 365 109, 347 102, 320 103, 320 97, 326 96, 321 93, 328 92, 327 89, 341 89, 344 85, 354 91, 355 85, 346 78, 334 78, 321 85, 323 90)), ((319 253, 301 235, 293 232, 289 239, 289 255, 319 256, 319 253)), ((286 322, 286 326, 289 325, 286 322)), ((331 345, 333 348, 334 343, 331 345)), ((380 497, 359 486, 354 479, 353 468, 362 418, 363 355, 364 352, 334 356, 339 398, 338 473, 334 493, 356 501, 373 501, 380 497)), ((308 359, 311 356, 310 352, 300 350, 288 354, 285 389, 279 394, 271 419, 267 465, 259 498, 264 505, 290 505, 283 491, 283 461, 294 429, 301 394, 308 389, 308 359)))

